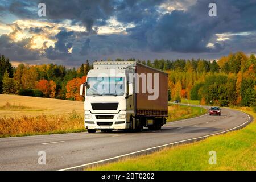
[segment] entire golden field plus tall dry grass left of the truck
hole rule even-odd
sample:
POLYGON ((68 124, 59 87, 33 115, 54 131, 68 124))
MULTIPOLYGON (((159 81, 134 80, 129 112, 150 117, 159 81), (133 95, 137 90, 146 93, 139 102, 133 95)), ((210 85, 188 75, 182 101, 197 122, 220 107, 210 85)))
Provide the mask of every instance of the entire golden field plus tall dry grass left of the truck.
POLYGON ((0 137, 85 131, 84 103, 0 94, 0 137))

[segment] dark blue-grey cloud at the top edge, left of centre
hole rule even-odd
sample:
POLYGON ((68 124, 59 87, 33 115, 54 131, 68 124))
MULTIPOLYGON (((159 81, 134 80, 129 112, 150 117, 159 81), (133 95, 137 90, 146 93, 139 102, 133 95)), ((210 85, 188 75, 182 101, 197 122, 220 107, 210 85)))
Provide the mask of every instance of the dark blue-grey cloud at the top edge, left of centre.
POLYGON ((105 23, 113 13, 112 1, 109 0, 44 0, 46 3, 47 19, 60 22, 62 20, 72 20, 72 23, 80 23, 84 25, 88 31, 92 31, 92 26, 99 23, 105 23))

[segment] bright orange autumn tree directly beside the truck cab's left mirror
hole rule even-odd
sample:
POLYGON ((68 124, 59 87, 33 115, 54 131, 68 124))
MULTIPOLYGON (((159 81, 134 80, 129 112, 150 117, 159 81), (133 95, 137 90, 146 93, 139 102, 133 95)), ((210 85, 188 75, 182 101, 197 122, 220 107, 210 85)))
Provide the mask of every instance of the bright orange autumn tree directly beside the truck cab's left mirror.
POLYGON ((80 85, 84 83, 85 80, 86 76, 81 78, 73 78, 73 80, 69 81, 66 86, 66 97, 70 100, 82 101, 83 98, 80 96, 80 85))

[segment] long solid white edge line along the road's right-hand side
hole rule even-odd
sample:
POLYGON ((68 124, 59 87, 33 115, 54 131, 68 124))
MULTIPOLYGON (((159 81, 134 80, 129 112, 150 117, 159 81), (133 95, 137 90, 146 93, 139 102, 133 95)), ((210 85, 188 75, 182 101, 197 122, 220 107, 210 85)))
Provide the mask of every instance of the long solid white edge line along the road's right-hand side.
MULTIPOLYGON (((246 114, 246 113, 244 113, 244 114, 246 114)), ((247 117, 249 117, 249 120, 250 120, 250 116, 249 116, 248 114, 246 114, 246 115, 247 115, 247 117)), ((229 130, 221 131, 221 132, 219 132, 219 133, 214 133, 214 134, 210 134, 210 135, 204 135, 204 136, 202 136, 202 137, 196 137, 196 138, 191 138, 191 139, 187 139, 187 140, 181 140, 181 141, 179 141, 179 142, 173 142, 173 143, 163 144, 162 146, 156 146, 156 147, 146 148, 146 149, 144 149, 144 150, 135 151, 135 152, 131 152, 131 153, 128 153, 128 154, 123 154, 123 155, 115 156, 115 157, 109 158, 109 159, 98 160, 98 161, 92 162, 92 163, 87 163, 87 164, 82 164, 82 165, 79 165, 79 166, 74 166, 74 167, 69 167, 69 168, 65 168, 65 169, 60 169, 59 171, 66 171, 66 170, 74 169, 74 168, 78 168, 78 167, 85 167, 85 166, 89 166, 89 165, 92 165, 92 164, 97 164, 97 163, 101 163, 101 162, 106 162, 106 161, 112 160, 112 159, 122 158, 122 157, 124 157, 124 156, 129 156, 129 155, 133 155, 133 154, 138 154, 139 152, 144 152, 144 151, 152 150, 152 149, 155 149, 155 148, 170 146, 170 145, 172 145, 172 144, 188 142, 189 140, 195 140, 195 139, 200 139, 200 138, 205 138, 205 137, 210 137, 210 136, 213 136, 213 135, 218 135, 218 134, 226 133, 226 132, 228 132, 228 131, 230 131, 230 130, 237 129, 237 128, 240 127, 240 126, 245 125, 247 122, 249 122, 249 120, 246 121, 245 123, 242 123, 242 125, 233 127, 232 129, 229 129, 229 130)))

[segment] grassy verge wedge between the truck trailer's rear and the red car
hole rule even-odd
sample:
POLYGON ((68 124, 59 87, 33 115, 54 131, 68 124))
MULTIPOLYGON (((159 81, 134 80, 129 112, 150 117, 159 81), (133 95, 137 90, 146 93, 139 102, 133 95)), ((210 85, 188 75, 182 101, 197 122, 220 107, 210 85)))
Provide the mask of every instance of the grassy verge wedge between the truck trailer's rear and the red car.
POLYGON ((199 115, 203 115, 205 113, 207 113, 207 109, 204 109, 204 108, 202 108, 202 113, 201 113, 200 107, 169 104, 167 122, 193 118, 199 115))

